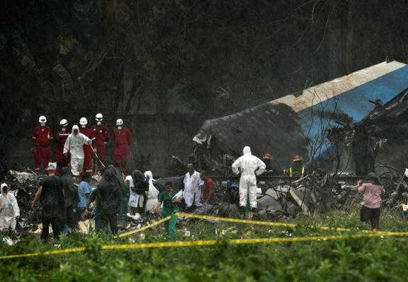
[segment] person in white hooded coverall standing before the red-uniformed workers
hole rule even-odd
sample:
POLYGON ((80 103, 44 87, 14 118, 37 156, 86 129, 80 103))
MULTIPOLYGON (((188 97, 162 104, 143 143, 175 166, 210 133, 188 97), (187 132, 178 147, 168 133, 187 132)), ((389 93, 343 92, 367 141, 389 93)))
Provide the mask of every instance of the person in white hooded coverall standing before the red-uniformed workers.
POLYGON ((74 176, 79 176, 83 168, 83 145, 91 144, 92 140, 79 132, 78 125, 72 127, 72 133, 69 134, 64 144, 64 156, 71 153, 71 172, 74 176))

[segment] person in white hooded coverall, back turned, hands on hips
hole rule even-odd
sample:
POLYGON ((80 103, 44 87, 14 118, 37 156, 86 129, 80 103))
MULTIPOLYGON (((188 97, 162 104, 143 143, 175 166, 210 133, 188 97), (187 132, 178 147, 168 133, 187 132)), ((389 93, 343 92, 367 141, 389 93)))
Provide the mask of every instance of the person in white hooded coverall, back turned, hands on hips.
POLYGON ((262 175, 267 167, 260 158, 252 155, 251 148, 245 146, 243 155, 232 164, 232 170, 235 175, 241 172, 240 178, 240 210, 245 210, 249 194, 250 206, 257 208, 257 177, 262 175), (255 175, 256 174, 256 175, 255 175))

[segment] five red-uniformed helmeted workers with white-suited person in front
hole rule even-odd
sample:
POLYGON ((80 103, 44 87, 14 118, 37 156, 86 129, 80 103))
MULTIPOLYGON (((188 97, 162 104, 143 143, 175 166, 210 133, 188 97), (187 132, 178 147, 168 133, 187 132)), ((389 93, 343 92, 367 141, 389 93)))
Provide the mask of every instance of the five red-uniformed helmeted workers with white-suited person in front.
MULTIPOLYGON (((54 140, 52 129, 48 127, 47 118, 40 116, 39 125, 33 131, 33 153, 34 167, 36 172, 40 172, 40 166, 47 168, 49 163, 51 144, 54 140)), ((75 177, 80 175, 91 175, 93 172, 93 160, 98 162, 99 170, 104 168, 106 157, 106 145, 110 140, 110 132, 103 124, 103 114, 95 115, 95 124, 88 125, 88 119, 81 117, 79 126, 74 124, 71 131, 68 129, 68 121, 62 119, 59 122, 61 129, 56 134, 55 160, 57 161, 57 174, 62 167, 71 165, 71 172, 75 177)), ((123 120, 117 119, 116 128, 112 131, 114 143, 113 163, 122 170, 127 169, 129 160, 130 145, 132 143, 132 133, 124 127, 123 120)))

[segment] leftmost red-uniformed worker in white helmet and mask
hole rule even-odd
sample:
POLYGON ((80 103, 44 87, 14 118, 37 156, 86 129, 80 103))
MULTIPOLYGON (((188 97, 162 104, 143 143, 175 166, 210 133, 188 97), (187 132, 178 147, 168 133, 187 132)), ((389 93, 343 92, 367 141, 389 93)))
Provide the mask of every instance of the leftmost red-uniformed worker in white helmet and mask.
POLYGON ((34 141, 34 170, 36 172, 40 171, 40 166, 45 169, 49 163, 49 144, 51 143, 53 136, 51 128, 47 127, 47 119, 45 116, 41 116, 38 119, 40 125, 35 127, 33 131, 33 141, 34 141))

